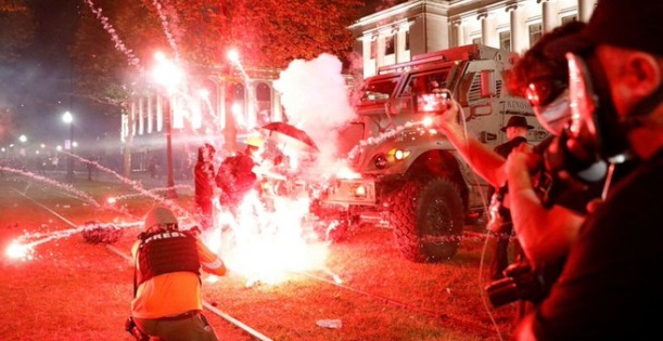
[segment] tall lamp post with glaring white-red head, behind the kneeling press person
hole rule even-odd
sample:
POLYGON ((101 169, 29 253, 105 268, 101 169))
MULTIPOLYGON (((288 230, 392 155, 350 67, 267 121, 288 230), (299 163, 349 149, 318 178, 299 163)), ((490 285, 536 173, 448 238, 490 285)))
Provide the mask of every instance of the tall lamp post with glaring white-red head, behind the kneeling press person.
POLYGON ((168 192, 166 195, 168 198, 177 198, 177 193, 175 192, 175 174, 173 172, 173 106, 170 99, 173 97, 173 93, 177 90, 177 86, 182 80, 183 73, 175 63, 166 58, 162 52, 155 53, 154 58, 156 60, 156 66, 153 70, 154 80, 165 87, 168 94, 164 108, 164 113, 166 114, 164 120, 164 126, 166 126, 166 167, 168 169, 168 192))

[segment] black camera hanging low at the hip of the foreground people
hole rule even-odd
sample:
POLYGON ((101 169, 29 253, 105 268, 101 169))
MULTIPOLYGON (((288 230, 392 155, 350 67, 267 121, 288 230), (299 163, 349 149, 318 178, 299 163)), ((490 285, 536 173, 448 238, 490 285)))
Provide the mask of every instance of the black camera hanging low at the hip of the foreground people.
POLYGON ((490 304, 495 307, 519 300, 540 302, 548 293, 545 276, 532 268, 527 262, 509 265, 505 278, 488 284, 485 288, 490 304))

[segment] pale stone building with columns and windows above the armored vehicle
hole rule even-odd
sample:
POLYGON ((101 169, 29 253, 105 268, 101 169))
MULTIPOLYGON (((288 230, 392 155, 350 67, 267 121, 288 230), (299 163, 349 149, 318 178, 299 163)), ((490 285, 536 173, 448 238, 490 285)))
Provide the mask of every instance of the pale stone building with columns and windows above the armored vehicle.
POLYGON ((380 66, 471 43, 522 53, 569 21, 587 21, 596 0, 411 0, 367 15, 349 28, 364 76, 380 66))

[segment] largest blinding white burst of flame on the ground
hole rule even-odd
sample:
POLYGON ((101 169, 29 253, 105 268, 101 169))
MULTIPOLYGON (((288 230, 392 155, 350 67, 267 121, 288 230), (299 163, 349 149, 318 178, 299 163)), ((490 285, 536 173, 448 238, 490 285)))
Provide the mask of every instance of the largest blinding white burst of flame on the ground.
POLYGON ((246 277, 247 287, 281 283, 293 272, 321 270, 327 244, 305 226, 309 207, 305 195, 265 199, 252 191, 234 214, 217 212, 219 232, 207 240, 221 240, 219 254, 229 268, 246 277), (264 200, 270 201, 264 205, 264 200))

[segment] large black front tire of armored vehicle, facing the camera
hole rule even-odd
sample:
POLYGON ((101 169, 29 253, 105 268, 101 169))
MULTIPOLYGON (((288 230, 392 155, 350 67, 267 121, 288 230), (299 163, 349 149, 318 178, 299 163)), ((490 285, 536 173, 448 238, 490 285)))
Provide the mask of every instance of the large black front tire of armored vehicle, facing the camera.
POLYGON ((400 253, 413 262, 441 262, 456 254, 463 228, 463 205, 447 179, 409 181, 394 196, 391 214, 400 253))

